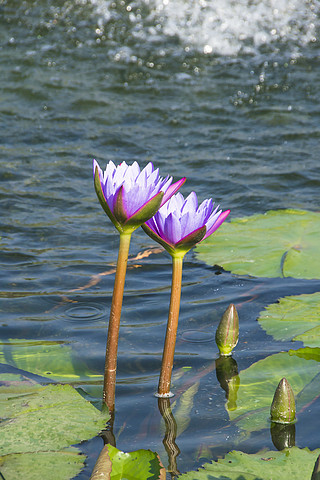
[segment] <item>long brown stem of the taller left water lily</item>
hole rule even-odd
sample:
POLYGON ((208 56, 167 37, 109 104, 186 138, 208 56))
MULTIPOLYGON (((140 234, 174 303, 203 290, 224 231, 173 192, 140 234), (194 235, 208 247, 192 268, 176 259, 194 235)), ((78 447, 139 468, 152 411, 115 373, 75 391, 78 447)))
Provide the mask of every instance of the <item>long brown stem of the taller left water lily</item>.
POLYGON ((103 401, 110 412, 114 411, 118 339, 124 283, 127 271, 131 233, 120 233, 120 245, 111 303, 106 362, 104 369, 103 401))

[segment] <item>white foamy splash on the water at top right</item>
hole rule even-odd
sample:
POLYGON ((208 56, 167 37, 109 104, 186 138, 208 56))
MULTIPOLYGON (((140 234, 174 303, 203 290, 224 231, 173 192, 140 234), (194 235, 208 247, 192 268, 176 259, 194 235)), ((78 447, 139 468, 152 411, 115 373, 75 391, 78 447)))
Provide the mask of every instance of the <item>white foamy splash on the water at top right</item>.
MULTIPOLYGON (((114 1, 90 0, 101 22, 114 19, 114 1)), ((135 37, 152 42, 174 36, 185 48, 205 54, 254 54, 279 42, 299 48, 317 40, 320 24, 320 0, 137 0, 122 5, 135 37)))

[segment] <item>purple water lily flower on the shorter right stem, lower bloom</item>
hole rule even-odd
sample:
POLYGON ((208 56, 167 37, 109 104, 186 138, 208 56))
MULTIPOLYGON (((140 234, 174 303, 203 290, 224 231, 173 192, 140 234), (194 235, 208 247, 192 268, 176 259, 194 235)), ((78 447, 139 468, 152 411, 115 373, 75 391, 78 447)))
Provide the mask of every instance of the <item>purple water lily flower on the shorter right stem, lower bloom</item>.
POLYGON ((186 199, 177 193, 142 228, 172 256, 184 256, 196 243, 215 232, 230 213, 213 206, 212 199, 198 206, 195 192, 186 199))

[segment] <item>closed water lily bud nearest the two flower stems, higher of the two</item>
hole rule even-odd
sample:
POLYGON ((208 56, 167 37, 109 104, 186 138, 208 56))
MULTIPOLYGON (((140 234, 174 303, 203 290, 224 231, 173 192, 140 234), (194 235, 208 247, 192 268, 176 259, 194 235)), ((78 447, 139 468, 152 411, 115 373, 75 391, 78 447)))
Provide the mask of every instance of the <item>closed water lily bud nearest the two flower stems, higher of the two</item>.
POLYGON ((220 355, 231 355, 239 339, 239 317, 238 312, 231 303, 224 312, 216 331, 216 344, 220 355))

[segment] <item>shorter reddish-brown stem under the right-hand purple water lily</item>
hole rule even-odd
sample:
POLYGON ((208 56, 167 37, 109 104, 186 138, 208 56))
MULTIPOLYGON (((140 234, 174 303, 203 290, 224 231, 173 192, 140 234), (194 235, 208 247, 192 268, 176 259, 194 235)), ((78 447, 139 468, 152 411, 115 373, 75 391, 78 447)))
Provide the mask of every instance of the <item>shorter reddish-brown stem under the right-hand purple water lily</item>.
POLYGON ((172 256, 172 284, 169 317, 158 386, 158 395, 160 397, 170 396, 171 373, 180 311, 182 264, 183 257, 172 256))

